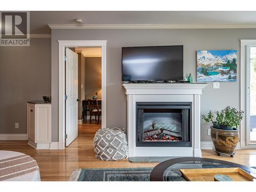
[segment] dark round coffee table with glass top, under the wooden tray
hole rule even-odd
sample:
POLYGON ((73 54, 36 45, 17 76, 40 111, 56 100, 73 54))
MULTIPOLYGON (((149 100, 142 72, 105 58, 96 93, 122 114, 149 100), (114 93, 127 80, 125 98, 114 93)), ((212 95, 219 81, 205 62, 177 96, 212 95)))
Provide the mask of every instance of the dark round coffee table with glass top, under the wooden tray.
MULTIPOLYGON (((216 168, 239 167, 256 177, 256 169, 229 161, 201 157, 182 157, 163 161, 155 166, 150 174, 151 181, 174 181, 170 178, 179 172, 181 168, 216 168), (174 172, 176 170, 176 173, 174 172)), ((180 173, 180 172, 179 172, 180 173)), ((180 173, 181 176, 181 173, 180 173)), ((180 177, 181 178, 181 177, 180 177)), ((183 178, 181 178, 183 179, 183 178)), ((183 179, 184 180, 184 179, 183 179)))

